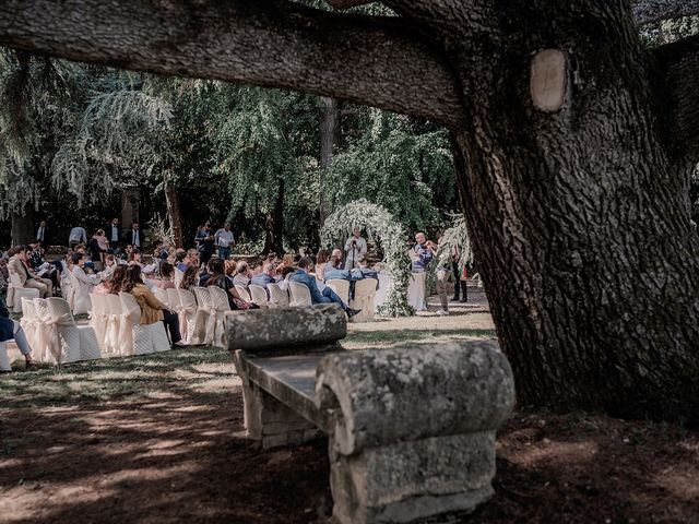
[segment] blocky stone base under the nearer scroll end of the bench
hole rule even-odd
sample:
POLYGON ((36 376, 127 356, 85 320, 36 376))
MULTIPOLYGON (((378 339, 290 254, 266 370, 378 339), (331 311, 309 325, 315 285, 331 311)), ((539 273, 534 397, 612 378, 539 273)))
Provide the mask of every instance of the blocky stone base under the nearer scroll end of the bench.
POLYGON ((330 442, 340 524, 401 523, 473 511, 493 496, 495 431, 369 448, 344 456, 330 442))

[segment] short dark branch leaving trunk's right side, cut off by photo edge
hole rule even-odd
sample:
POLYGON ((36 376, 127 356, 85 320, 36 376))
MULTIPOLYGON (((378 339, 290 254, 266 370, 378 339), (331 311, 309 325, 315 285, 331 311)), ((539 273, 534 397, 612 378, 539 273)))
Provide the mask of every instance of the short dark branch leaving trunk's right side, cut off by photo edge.
POLYGON ((662 64, 663 92, 672 107, 675 143, 682 153, 699 153, 699 35, 654 50, 662 64))

